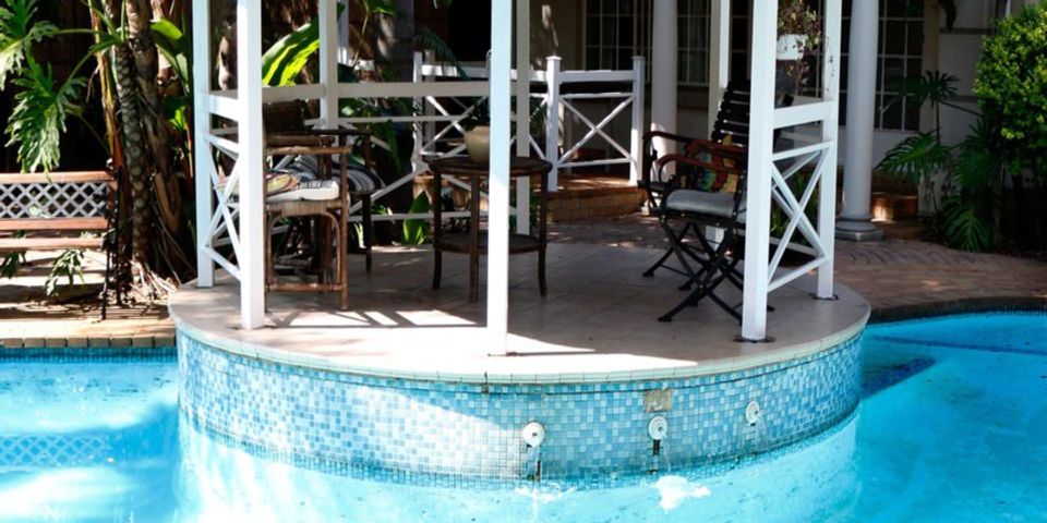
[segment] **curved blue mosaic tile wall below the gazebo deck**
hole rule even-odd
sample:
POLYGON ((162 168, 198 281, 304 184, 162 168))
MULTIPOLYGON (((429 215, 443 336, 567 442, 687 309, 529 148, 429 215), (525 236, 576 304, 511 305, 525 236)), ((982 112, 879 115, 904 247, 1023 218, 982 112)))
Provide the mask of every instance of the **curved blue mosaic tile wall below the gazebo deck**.
POLYGON ((327 472, 457 484, 477 478, 600 482, 722 463, 820 433, 861 396, 859 338, 784 363, 678 380, 473 385, 275 364, 179 335, 180 408, 255 454, 327 472), (759 419, 747 406, 757 402, 759 419), (659 455, 648 423, 664 416, 659 455), (539 449, 521 428, 546 429, 539 449))

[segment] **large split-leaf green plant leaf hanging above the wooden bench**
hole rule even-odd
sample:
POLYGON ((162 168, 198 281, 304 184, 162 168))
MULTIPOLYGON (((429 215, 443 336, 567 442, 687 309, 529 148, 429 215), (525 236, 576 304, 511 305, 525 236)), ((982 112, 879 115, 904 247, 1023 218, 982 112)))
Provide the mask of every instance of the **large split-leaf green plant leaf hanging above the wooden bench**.
POLYGON ((65 132, 65 119, 81 111, 73 100, 87 82, 71 77, 56 87, 50 64, 45 69, 32 60, 23 75, 13 82, 23 90, 14 97, 15 107, 7 130, 10 136, 8 146, 17 145, 23 171, 43 169, 48 172, 58 167, 61 159, 59 141, 65 132))

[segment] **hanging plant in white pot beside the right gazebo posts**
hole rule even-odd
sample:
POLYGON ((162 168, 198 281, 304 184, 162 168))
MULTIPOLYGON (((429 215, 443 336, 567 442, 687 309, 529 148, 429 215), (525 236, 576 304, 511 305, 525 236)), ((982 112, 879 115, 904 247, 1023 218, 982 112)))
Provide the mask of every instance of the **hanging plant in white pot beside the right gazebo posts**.
POLYGON ((778 60, 798 93, 810 73, 804 58, 821 45, 821 21, 806 0, 782 0, 778 8, 778 60))

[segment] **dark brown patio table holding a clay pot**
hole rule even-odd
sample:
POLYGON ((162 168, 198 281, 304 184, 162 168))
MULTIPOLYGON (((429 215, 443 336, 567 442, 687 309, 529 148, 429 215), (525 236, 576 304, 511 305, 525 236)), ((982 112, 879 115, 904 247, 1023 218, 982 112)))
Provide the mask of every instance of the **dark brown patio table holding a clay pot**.
MULTIPOLYGON (((443 252, 469 255, 469 301, 479 300, 480 256, 488 252, 488 235, 480 230, 480 188, 481 182, 490 177, 488 163, 478 163, 469 158, 441 158, 430 162, 433 171, 433 251, 435 267, 433 289, 440 289, 443 252), (442 231, 442 209, 440 191, 443 177, 455 177, 469 181, 469 232, 444 234, 442 231)), ((545 247, 547 245, 546 217, 549 215, 549 173, 552 165, 533 158, 513 158, 509 177, 539 177, 539 220, 537 234, 510 234, 509 254, 538 253, 538 280, 542 295, 545 295, 545 247)))

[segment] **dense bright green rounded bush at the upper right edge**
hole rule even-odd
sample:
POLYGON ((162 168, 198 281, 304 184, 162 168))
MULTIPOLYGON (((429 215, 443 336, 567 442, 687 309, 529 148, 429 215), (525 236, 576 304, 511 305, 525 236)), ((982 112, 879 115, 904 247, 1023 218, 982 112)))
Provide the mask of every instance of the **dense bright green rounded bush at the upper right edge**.
POLYGON ((1008 157, 1047 175, 1047 3, 1001 20, 975 74, 974 94, 986 118, 1000 122, 1008 157))

